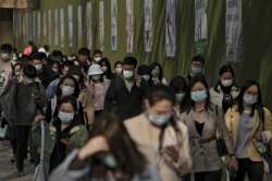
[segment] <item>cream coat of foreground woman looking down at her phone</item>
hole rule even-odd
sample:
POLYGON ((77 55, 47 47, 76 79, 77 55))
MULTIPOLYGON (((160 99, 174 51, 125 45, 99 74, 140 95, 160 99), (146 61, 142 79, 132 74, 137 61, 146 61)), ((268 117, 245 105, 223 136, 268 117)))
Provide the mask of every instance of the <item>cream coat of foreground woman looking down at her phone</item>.
MULTIPOLYGON (((180 180, 180 176, 174 169, 165 164, 165 155, 159 154, 160 129, 153 126, 145 113, 125 121, 125 126, 148 161, 158 167, 163 181, 180 180)), ((181 166, 181 170, 184 171, 184 173, 188 173, 191 167, 187 136, 188 133, 186 126, 182 122, 177 122, 177 126, 182 133, 182 144, 177 143, 174 129, 169 126, 165 130, 162 149, 170 145, 178 146, 180 159, 177 162, 181 166)))

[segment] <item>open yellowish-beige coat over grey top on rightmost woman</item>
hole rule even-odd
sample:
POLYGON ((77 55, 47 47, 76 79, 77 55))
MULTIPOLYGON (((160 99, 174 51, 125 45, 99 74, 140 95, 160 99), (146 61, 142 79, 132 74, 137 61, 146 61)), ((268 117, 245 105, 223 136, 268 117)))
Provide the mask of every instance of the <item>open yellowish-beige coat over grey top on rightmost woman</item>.
MULTIPOLYGON (((263 108, 263 110, 264 110, 264 130, 272 133, 271 113, 267 108, 263 108)), ((238 112, 237 106, 234 106, 233 108, 228 109, 228 111, 225 114, 225 121, 232 134, 234 146, 236 146, 237 140, 238 140, 238 133, 239 133, 239 121, 240 121, 240 113, 238 112)), ((259 122, 260 122, 259 113, 256 110, 254 114, 254 125, 252 125, 251 136, 250 136, 252 138, 254 138, 254 134, 256 133, 259 126, 259 122)), ((252 161, 262 161, 262 158, 258 154, 252 140, 250 141, 248 145, 247 155, 249 159, 252 161)))

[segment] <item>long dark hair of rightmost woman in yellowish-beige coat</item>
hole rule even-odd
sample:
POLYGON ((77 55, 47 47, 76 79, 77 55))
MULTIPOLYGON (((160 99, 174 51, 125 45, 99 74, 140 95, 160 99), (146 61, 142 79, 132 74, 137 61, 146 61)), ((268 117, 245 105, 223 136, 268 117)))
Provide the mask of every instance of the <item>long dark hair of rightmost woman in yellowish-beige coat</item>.
POLYGON ((251 86, 257 86, 257 88, 258 88, 258 101, 252 106, 252 110, 251 110, 250 116, 252 117, 255 114, 255 110, 258 110, 260 119, 263 120, 264 112, 263 112, 263 107, 262 107, 260 84, 256 81, 252 81, 252 80, 246 81, 240 88, 240 93, 237 97, 238 112, 239 113, 244 112, 244 95, 245 95, 245 92, 251 86))

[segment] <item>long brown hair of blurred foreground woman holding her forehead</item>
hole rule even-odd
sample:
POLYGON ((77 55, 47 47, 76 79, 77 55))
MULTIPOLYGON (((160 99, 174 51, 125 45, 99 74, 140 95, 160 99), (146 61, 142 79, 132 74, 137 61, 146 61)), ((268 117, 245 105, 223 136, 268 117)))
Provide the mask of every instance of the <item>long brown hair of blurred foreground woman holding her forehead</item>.
POLYGON ((123 121, 113 113, 104 113, 99 119, 95 135, 103 135, 116 158, 121 170, 133 178, 146 170, 147 160, 137 149, 123 121))

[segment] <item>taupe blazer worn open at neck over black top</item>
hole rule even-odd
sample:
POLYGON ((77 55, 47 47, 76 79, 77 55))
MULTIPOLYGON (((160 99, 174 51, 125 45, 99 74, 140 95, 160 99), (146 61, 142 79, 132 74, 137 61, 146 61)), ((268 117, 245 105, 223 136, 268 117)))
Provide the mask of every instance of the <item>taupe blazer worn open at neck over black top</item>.
POLYGON ((218 116, 215 110, 209 109, 207 113, 208 120, 205 121, 202 135, 197 132, 195 125, 195 111, 190 110, 182 114, 182 121, 185 122, 189 132, 194 172, 215 171, 222 168, 223 165, 218 153, 215 138, 218 130, 222 133, 227 153, 230 155, 234 154, 233 141, 223 120, 222 111, 219 111, 218 116))

